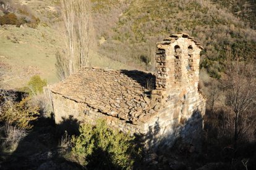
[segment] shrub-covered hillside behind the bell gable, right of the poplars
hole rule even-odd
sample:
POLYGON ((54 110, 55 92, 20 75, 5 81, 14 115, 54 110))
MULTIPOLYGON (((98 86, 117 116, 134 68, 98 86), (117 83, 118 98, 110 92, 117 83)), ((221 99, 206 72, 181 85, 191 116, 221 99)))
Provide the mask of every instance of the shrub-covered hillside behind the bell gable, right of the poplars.
MULTIPOLYGON (((111 59, 145 63, 150 69, 155 42, 179 31, 194 36, 205 47, 202 67, 207 68, 213 77, 224 70, 228 48, 231 48, 233 57, 255 58, 254 26, 230 14, 220 3, 216 6, 210 1, 162 0, 157 3, 125 1, 121 7, 116 4, 109 6, 111 9, 95 10, 95 29, 99 39, 106 39, 99 52, 111 59)), ((253 13, 245 14, 245 11, 241 15, 244 18, 254 16, 253 13)))

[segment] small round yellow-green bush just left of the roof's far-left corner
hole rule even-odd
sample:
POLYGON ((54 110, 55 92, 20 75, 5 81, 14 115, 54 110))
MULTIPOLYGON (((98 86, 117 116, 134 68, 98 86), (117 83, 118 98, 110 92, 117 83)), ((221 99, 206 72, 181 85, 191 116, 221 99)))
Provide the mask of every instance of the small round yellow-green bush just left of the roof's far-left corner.
POLYGON ((28 87, 30 89, 28 90, 29 95, 37 95, 43 93, 43 86, 47 85, 46 79, 41 79, 40 76, 35 75, 32 78, 30 78, 30 81, 28 81, 28 87))

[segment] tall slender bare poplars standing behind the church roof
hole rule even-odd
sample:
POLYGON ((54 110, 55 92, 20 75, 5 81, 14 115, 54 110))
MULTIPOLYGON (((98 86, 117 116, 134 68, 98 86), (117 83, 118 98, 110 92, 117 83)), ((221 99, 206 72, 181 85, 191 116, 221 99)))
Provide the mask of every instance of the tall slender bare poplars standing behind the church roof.
POLYGON ((64 21, 61 30, 64 30, 65 37, 62 46, 64 52, 58 52, 56 55, 58 76, 61 79, 74 74, 77 66, 81 68, 88 65, 90 45, 93 44, 91 12, 89 0, 61 0, 61 14, 64 21))

